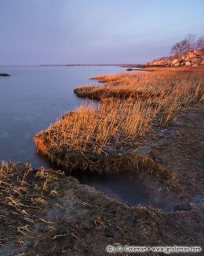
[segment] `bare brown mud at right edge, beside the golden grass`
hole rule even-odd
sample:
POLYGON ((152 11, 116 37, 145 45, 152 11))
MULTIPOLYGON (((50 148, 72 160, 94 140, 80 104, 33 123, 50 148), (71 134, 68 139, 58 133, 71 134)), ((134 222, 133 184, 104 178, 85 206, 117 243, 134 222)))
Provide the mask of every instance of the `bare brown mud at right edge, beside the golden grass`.
POLYGON ((204 106, 184 109, 167 128, 158 128, 139 153, 171 170, 190 195, 204 194, 204 106))

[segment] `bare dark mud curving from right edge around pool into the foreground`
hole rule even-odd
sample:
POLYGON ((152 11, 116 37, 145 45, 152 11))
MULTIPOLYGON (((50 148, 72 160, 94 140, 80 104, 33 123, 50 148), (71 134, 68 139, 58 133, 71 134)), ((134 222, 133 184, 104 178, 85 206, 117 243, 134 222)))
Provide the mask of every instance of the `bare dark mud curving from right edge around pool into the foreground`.
POLYGON ((108 244, 204 249, 203 116, 204 106, 184 110, 169 128, 160 128, 155 139, 147 140, 139 150, 173 172, 189 195, 188 203, 169 212, 142 206, 130 208, 93 187, 79 184, 75 178, 62 176, 56 196, 49 199, 46 195, 47 203, 38 217, 44 221, 28 223, 31 236, 15 229, 15 215, 15 234, 1 219, 0 255, 104 256, 108 255, 108 244), (20 243, 14 238, 3 239, 14 235, 20 243))

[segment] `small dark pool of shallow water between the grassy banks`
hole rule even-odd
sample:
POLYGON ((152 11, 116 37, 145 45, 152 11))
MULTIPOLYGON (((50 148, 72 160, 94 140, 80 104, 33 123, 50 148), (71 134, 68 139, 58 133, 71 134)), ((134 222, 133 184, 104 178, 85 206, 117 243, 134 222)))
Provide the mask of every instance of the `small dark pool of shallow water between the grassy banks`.
POLYGON ((152 185, 154 181, 150 178, 140 179, 137 176, 126 176, 125 174, 114 176, 93 175, 93 173, 82 173, 75 175, 82 184, 95 187, 104 194, 115 198, 127 206, 153 206, 162 210, 173 210, 175 202, 169 202, 169 198, 159 195, 152 185))

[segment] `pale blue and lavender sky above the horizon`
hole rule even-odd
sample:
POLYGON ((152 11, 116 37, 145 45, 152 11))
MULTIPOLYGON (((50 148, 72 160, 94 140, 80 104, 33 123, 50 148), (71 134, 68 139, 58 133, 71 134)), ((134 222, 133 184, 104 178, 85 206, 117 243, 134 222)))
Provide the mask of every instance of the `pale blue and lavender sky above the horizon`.
POLYGON ((0 65, 130 64, 204 35, 203 0, 0 0, 0 65))

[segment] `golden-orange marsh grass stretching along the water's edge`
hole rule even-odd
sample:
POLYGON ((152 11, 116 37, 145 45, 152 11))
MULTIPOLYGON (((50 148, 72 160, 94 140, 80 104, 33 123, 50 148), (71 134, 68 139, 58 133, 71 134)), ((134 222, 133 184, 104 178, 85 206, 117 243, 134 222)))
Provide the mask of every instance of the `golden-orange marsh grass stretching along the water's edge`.
POLYGON ((100 99, 98 106, 83 104, 35 135, 38 150, 58 164, 67 163, 75 169, 83 161, 88 165, 101 157, 136 149, 153 126, 167 125, 180 108, 199 104, 203 99, 202 68, 96 78, 105 85, 80 87, 75 93, 100 99))

